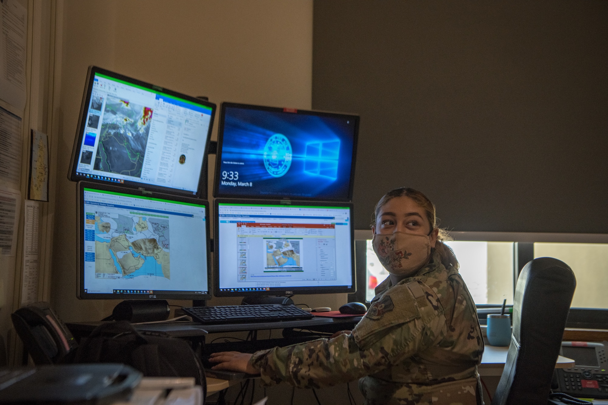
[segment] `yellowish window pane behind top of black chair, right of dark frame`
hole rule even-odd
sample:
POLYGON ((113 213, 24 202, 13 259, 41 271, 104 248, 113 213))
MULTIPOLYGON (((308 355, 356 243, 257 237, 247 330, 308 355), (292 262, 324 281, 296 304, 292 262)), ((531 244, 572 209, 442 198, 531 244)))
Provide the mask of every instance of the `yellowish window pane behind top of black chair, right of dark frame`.
POLYGON ((608 308, 607 243, 534 243, 534 258, 554 257, 576 276, 572 308, 608 308))

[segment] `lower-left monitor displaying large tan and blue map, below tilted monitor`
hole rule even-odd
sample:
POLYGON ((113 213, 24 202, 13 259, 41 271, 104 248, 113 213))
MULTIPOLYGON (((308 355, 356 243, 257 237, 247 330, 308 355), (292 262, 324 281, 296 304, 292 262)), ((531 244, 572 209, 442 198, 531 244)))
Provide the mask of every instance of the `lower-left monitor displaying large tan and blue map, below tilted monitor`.
POLYGON ((78 297, 210 299, 209 203, 78 184, 78 297))

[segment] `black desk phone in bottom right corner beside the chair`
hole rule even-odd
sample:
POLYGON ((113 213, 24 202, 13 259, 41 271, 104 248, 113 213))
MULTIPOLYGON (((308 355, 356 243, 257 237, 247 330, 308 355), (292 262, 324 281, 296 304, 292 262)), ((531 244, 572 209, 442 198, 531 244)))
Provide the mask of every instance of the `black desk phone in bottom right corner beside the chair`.
POLYGON ((608 342, 562 342, 560 354, 575 361, 575 366, 557 369, 554 392, 579 398, 608 398, 608 342))

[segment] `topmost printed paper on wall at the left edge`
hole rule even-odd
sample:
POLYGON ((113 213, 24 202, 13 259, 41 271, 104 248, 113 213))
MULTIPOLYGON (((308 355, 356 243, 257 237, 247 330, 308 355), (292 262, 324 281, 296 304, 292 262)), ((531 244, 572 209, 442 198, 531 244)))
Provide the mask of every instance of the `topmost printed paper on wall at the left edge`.
POLYGON ((0 97, 22 111, 26 107, 27 9, 16 0, 3 0, 0 8, 0 97))

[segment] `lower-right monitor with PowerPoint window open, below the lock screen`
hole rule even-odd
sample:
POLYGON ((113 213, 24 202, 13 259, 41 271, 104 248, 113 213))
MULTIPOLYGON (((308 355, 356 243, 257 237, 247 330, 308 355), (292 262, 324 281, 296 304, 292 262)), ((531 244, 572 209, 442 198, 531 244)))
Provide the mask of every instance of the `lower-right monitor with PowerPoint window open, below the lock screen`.
POLYGON ((216 296, 354 292, 348 202, 215 200, 216 296))

